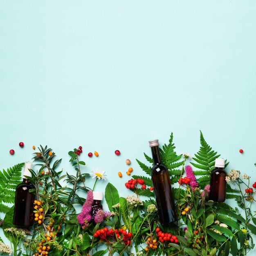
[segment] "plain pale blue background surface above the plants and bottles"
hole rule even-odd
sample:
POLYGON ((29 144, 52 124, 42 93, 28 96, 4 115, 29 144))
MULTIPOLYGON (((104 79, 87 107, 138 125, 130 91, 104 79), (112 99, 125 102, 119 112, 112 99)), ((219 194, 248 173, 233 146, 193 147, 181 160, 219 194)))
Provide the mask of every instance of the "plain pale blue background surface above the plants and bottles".
POLYGON ((142 174, 148 140, 173 132, 193 154, 202 130, 229 170, 255 177, 255 13, 255 1, 1 1, 0 169, 47 144, 71 173, 81 145, 84 171, 126 195, 126 158, 142 174))

